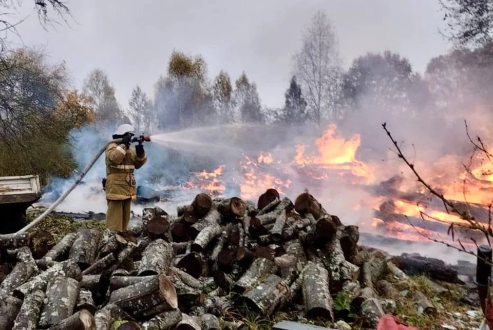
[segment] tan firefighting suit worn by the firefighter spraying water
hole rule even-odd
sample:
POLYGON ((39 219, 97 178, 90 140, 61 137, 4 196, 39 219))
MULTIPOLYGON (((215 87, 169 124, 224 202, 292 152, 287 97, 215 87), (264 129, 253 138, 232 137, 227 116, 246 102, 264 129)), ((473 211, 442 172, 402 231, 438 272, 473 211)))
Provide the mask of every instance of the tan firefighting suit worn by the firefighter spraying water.
POLYGON ((115 231, 127 229, 130 204, 137 199, 134 170, 147 161, 147 154, 137 157, 135 148, 110 143, 106 147, 106 228, 115 231))

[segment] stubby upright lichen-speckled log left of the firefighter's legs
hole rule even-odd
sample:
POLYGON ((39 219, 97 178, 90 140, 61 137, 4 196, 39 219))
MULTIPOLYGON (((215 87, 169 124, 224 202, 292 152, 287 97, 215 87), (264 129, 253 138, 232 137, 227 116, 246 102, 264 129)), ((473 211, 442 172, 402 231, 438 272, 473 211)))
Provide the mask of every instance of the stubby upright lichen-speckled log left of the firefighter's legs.
POLYGON ((81 270, 86 269, 96 259, 99 240, 100 232, 97 229, 79 229, 77 238, 75 238, 70 248, 68 258, 75 261, 81 270))

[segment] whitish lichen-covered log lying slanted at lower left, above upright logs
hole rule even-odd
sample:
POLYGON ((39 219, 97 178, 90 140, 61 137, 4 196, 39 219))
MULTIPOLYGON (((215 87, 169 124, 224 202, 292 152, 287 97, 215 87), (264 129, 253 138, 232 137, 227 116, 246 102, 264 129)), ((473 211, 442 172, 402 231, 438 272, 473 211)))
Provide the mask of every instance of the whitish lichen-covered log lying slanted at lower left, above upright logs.
POLYGON ((45 292, 48 282, 56 277, 71 277, 80 281, 82 279, 81 269, 73 260, 62 261, 14 289, 12 295, 24 299, 24 296, 35 290, 45 292))

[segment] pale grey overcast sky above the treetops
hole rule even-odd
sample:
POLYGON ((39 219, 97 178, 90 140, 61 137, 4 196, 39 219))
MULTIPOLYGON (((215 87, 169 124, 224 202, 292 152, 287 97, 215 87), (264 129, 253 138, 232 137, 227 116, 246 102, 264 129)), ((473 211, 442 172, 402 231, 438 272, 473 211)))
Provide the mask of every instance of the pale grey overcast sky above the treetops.
POLYGON ((247 72, 263 104, 283 103, 301 34, 319 9, 326 10, 339 39, 345 67, 368 51, 408 57, 423 72, 428 60, 448 50, 438 0, 83 0, 68 2, 71 27, 43 30, 24 0, 18 27, 27 46, 43 47, 65 61, 81 88, 92 69, 105 70, 127 107, 139 84, 148 95, 166 70, 173 49, 202 54, 211 79, 224 69, 233 80, 247 72))

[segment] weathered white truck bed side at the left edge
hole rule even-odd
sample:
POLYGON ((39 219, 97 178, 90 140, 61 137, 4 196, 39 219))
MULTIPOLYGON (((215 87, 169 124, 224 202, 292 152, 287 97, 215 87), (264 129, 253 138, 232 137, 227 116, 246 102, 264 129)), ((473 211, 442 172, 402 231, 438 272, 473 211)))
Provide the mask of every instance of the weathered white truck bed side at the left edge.
POLYGON ((34 202, 41 197, 40 177, 0 177, 0 204, 34 202))

